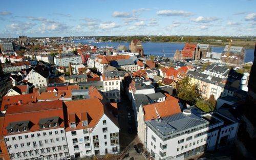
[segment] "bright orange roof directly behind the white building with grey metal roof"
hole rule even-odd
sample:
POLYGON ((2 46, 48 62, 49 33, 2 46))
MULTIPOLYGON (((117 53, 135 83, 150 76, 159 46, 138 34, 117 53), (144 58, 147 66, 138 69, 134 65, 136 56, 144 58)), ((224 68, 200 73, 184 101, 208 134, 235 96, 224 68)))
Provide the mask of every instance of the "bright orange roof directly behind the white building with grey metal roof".
POLYGON ((144 121, 156 119, 157 112, 160 117, 166 117, 181 112, 178 99, 176 98, 168 98, 164 102, 144 105, 143 109, 145 113, 144 121))

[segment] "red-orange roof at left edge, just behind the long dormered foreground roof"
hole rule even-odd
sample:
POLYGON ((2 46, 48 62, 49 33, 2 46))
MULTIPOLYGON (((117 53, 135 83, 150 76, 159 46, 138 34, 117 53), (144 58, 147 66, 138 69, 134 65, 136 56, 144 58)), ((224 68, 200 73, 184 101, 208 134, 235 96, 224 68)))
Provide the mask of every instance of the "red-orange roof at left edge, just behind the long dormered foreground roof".
POLYGON ((16 95, 16 96, 5 96, 3 97, 1 111, 6 110, 9 105, 15 105, 20 101, 22 104, 36 102, 35 94, 16 95))

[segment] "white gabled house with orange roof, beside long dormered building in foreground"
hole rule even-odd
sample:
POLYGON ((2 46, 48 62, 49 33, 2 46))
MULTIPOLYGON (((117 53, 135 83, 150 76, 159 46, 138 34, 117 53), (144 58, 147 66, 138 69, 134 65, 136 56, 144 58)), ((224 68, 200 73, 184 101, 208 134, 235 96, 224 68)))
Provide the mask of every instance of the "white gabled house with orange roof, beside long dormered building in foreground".
POLYGON ((105 104, 98 98, 65 104, 69 124, 66 135, 72 159, 119 153, 118 121, 105 104))

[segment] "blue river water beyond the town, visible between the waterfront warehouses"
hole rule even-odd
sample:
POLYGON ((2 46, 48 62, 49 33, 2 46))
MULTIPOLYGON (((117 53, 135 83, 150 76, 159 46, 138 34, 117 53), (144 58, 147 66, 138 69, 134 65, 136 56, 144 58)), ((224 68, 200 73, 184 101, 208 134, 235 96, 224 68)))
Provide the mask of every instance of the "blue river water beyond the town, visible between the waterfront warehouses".
MULTIPOLYGON (((91 44, 96 45, 97 48, 101 47, 114 47, 117 48, 119 44, 125 45, 129 49, 130 42, 89 42, 88 40, 74 40, 74 43, 91 44)), ((144 54, 162 56, 163 50, 165 57, 173 57, 176 50, 182 50, 184 43, 163 43, 163 42, 142 42, 144 54)), ((223 47, 213 47, 213 52, 222 52, 223 47)), ((253 61, 254 50, 246 49, 245 62, 253 61)))

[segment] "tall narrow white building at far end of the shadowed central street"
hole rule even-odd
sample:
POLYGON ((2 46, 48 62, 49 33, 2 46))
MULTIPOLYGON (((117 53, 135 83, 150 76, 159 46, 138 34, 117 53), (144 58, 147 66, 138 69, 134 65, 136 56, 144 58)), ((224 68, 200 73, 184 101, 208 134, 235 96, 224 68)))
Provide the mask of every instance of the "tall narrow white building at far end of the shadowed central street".
POLYGON ((121 79, 116 71, 104 72, 101 76, 103 81, 103 92, 110 102, 120 102, 121 79))

